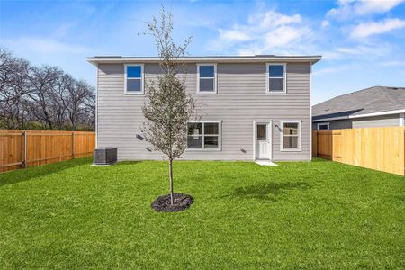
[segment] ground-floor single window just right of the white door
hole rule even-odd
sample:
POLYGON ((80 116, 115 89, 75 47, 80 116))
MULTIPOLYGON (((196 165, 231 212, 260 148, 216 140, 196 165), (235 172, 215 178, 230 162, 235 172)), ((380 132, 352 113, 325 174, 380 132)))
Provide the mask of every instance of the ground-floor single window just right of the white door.
POLYGON ((301 151, 301 121, 282 121, 281 125, 281 150, 301 151))

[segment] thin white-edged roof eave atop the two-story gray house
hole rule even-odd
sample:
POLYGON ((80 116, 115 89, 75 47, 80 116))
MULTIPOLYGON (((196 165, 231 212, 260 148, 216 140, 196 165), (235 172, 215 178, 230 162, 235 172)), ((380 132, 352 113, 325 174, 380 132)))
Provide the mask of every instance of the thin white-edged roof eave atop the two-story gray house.
MULTIPOLYGON (((277 56, 277 55, 254 55, 254 56, 196 56, 179 58, 181 62, 311 62, 320 61, 321 56, 277 56)), ((153 63, 158 62, 159 57, 126 57, 126 56, 94 56, 87 61, 96 65, 98 63, 153 63)))

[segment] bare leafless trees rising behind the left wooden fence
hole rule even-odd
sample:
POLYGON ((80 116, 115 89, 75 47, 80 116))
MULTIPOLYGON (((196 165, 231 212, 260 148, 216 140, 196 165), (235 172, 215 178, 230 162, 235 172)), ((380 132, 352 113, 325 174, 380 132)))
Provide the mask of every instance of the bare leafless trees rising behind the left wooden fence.
POLYGON ((0 128, 94 130, 94 86, 0 48, 0 128))

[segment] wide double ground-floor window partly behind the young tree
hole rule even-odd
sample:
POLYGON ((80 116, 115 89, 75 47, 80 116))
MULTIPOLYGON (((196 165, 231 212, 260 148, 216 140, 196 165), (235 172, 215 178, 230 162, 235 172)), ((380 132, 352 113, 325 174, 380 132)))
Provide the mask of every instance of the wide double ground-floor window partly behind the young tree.
POLYGON ((220 122, 189 122, 187 129, 187 148, 220 148, 220 122))

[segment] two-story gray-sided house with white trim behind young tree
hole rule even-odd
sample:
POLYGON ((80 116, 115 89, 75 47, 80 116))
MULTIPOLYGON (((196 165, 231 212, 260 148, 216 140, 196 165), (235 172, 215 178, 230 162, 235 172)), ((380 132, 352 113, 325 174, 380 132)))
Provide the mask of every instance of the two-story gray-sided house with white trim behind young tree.
MULTIPOLYGON (((159 58, 87 60, 97 67, 96 146, 118 147, 119 160, 161 159, 140 132, 145 85, 159 76, 159 58)), ((184 159, 311 160, 311 66, 319 60, 180 58, 187 92, 201 107, 184 159)))

